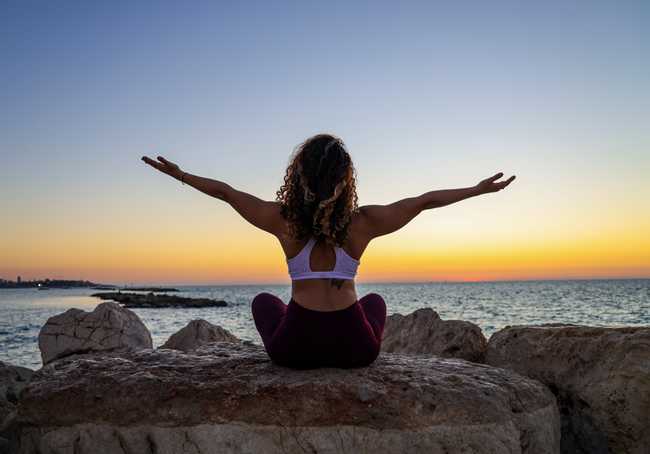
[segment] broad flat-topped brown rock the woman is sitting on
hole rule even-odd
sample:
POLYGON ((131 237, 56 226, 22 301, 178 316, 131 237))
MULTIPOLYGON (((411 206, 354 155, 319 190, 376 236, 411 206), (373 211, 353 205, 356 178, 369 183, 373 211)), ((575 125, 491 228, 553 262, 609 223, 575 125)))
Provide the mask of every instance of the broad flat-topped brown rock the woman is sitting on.
POLYGON ((559 430, 553 394, 504 369, 382 354, 291 370, 218 343, 56 361, 23 391, 12 434, 22 454, 503 454, 556 453, 559 430))

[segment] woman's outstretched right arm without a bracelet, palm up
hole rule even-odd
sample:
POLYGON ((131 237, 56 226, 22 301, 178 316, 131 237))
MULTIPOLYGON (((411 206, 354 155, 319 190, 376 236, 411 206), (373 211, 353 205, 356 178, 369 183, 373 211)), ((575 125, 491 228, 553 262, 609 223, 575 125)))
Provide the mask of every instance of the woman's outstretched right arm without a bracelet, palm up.
POLYGON ((499 172, 475 186, 460 189, 429 191, 417 197, 409 197, 389 205, 365 205, 359 208, 361 230, 372 239, 401 229, 423 210, 439 208, 481 194, 497 192, 515 179, 514 175, 504 181, 499 172))

